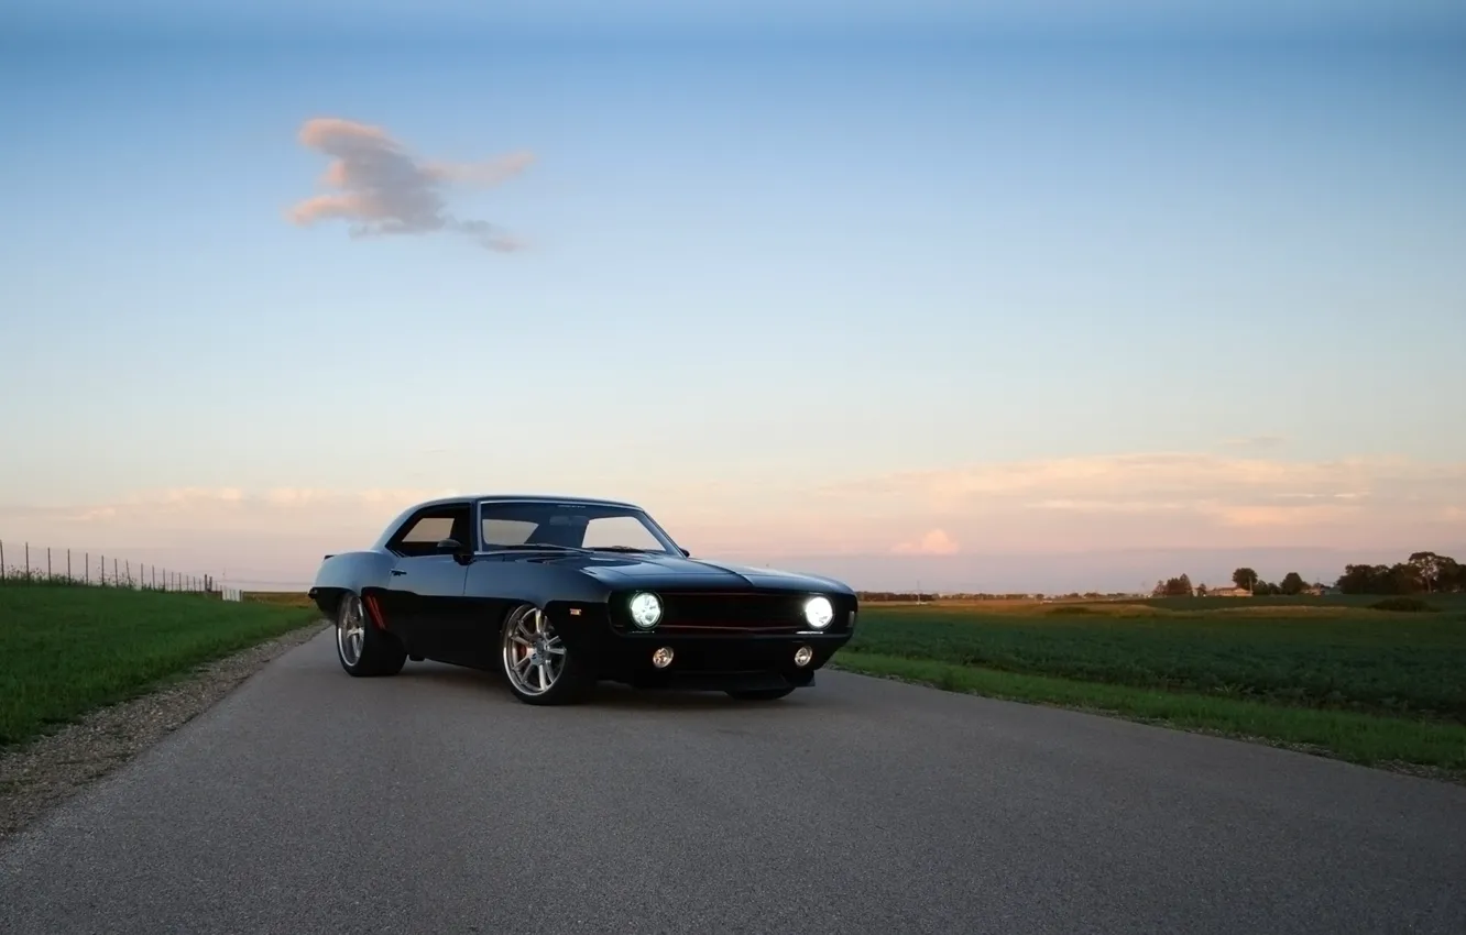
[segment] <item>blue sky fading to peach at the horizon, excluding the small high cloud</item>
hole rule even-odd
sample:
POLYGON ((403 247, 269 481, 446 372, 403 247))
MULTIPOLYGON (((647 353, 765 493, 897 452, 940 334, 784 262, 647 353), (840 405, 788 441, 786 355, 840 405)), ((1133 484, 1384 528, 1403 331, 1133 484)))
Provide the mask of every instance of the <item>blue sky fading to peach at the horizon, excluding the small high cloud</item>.
POLYGON ((1466 18, 1233 7, 7 9, 0 536, 299 574, 556 489, 858 583, 1463 542, 1466 18), (532 152, 444 193, 526 248, 292 224, 318 117, 532 152))

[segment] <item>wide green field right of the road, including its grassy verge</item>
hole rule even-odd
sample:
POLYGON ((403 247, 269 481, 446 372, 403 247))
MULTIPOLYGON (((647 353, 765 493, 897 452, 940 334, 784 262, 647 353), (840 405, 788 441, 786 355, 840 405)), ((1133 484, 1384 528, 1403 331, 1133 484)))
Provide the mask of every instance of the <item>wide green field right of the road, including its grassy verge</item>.
POLYGON ((1466 772, 1466 599, 868 604, 853 671, 1466 772))

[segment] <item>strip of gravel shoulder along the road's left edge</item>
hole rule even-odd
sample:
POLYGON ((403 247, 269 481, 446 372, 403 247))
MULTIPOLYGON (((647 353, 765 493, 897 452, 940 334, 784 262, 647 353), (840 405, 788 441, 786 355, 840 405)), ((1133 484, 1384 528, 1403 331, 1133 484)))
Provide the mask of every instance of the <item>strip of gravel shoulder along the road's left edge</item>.
POLYGON ((328 620, 314 620, 0 752, 0 843, 148 750, 267 664, 330 626, 328 620))

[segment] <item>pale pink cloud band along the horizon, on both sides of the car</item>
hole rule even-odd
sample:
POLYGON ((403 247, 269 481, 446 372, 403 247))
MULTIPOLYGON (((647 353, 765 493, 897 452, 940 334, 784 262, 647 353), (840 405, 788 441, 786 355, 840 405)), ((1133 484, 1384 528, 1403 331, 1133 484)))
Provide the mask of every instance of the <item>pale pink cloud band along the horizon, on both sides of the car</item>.
MULTIPOLYGON (((1399 457, 1141 453, 975 463, 824 485, 771 485, 756 473, 715 481, 601 492, 641 498, 693 554, 743 560, 863 554, 956 561, 1201 547, 1413 550, 1459 542, 1466 529, 1466 465, 1399 457)), ((60 545, 186 541, 233 564, 227 555, 246 541, 262 551, 296 542, 306 555, 364 545, 403 507, 453 492, 422 487, 176 488, 94 503, 0 506, 0 532, 60 545)))

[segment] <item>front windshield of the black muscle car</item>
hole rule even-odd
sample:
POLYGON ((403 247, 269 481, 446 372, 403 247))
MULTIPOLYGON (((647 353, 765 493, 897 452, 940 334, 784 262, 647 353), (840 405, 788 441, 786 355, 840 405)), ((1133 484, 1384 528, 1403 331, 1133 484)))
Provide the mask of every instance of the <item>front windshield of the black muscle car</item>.
POLYGON ((479 501, 484 550, 588 548, 597 551, 676 552, 645 513, 633 507, 573 500, 479 501))

